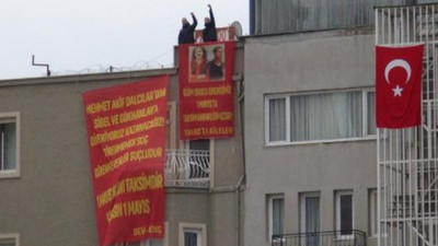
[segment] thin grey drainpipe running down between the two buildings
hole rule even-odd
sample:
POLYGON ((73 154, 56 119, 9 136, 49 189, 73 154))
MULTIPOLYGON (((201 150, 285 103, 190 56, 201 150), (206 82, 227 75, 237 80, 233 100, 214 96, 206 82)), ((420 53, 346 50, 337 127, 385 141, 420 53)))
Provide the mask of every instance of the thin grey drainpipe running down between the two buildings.
POLYGON ((243 179, 245 177, 245 144, 244 144, 244 132, 243 132, 243 115, 242 115, 242 102, 243 102, 243 75, 241 73, 237 73, 232 77, 232 80, 235 83, 235 87, 237 87, 237 93, 238 93, 238 107, 237 107, 237 115, 238 115, 238 125, 240 128, 240 142, 241 142, 241 148, 242 148, 242 153, 241 153, 241 157, 242 157, 242 176, 239 178, 238 184, 234 187, 234 201, 235 201, 235 244, 237 246, 240 246, 240 242, 241 242, 241 200, 240 200, 240 189, 243 183, 243 179))

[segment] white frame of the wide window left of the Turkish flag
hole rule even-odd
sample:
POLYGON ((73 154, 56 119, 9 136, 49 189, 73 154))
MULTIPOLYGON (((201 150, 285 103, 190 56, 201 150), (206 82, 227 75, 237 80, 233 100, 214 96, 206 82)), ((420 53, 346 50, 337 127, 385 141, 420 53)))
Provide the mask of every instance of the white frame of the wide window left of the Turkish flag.
MULTIPOLYGON (((277 147, 277 145, 297 145, 297 144, 312 144, 312 143, 332 143, 332 142, 347 142, 347 141, 362 141, 362 140, 376 140, 376 134, 369 134, 368 132, 368 93, 374 93, 372 87, 362 89, 350 89, 350 90, 335 90, 335 91, 315 91, 315 92, 302 92, 302 93, 283 93, 283 94, 266 94, 264 97, 264 122, 265 122, 265 145, 277 147), (304 141, 291 141, 290 140, 290 97, 291 96, 303 96, 303 95, 315 95, 326 93, 345 93, 345 92, 361 92, 362 94, 362 137, 359 138, 342 138, 342 139, 323 139, 323 140, 304 140, 304 141), (285 117, 286 117, 286 140, 270 141, 269 139, 269 102, 270 99, 286 101, 285 105, 285 117)), ((377 132, 377 130, 376 130, 377 132)))

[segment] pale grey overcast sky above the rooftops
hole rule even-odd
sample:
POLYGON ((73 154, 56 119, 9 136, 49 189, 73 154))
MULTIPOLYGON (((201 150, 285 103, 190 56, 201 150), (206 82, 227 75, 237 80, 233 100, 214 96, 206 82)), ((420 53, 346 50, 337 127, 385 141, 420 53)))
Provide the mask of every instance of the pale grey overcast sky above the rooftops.
POLYGON ((170 66, 181 19, 204 27, 212 5, 217 26, 239 21, 249 33, 249 0, 1 0, 0 79, 87 73, 114 66, 170 66))

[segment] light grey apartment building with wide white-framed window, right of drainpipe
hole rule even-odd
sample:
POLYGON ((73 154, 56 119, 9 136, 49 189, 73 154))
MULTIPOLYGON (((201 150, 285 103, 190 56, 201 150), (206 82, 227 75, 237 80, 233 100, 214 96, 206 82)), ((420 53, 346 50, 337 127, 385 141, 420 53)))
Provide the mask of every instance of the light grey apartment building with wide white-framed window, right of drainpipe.
MULTIPOLYGON (((431 225, 419 229, 418 223, 415 229, 396 230, 402 226, 396 224, 400 216, 385 220, 378 210, 378 194, 384 191, 388 197, 384 209, 380 203, 381 211, 393 208, 389 206, 393 197, 412 194, 403 194, 401 179, 395 181, 388 171, 385 187, 377 189, 378 142, 385 143, 395 134, 382 130, 385 140, 378 141, 374 45, 379 35, 401 37, 405 31, 401 31, 400 16, 413 11, 405 5, 420 2, 250 2, 252 35, 245 37, 244 57, 244 245, 378 245, 379 229, 381 238, 392 237, 381 245, 415 245, 397 238, 406 236, 407 230, 411 235, 415 230, 436 230, 431 225), (393 5, 406 10, 395 13, 393 5), (379 8, 387 11, 382 15, 399 17, 378 22, 389 30, 376 32, 379 8), (396 192, 390 184, 397 187, 396 192)), ((422 5, 416 11, 411 23, 426 20, 426 13, 435 16, 431 8, 422 5)), ((429 27, 435 23, 426 22, 429 27)), ((429 149, 434 152, 436 145, 429 149)), ((382 160, 379 163, 388 164, 384 160, 390 157, 382 160)), ((435 187, 435 173, 428 174, 428 184, 435 187)), ((427 235, 431 238, 433 234, 427 235)), ((411 242, 427 244, 414 237, 411 242)))

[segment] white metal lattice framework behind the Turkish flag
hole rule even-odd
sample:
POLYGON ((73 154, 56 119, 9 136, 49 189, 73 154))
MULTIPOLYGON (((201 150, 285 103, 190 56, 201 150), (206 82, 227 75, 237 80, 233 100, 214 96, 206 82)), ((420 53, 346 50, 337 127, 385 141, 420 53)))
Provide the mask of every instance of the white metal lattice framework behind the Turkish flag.
POLYGON ((438 245, 438 4, 377 8, 376 45, 424 44, 423 125, 379 129, 380 246, 438 245))

